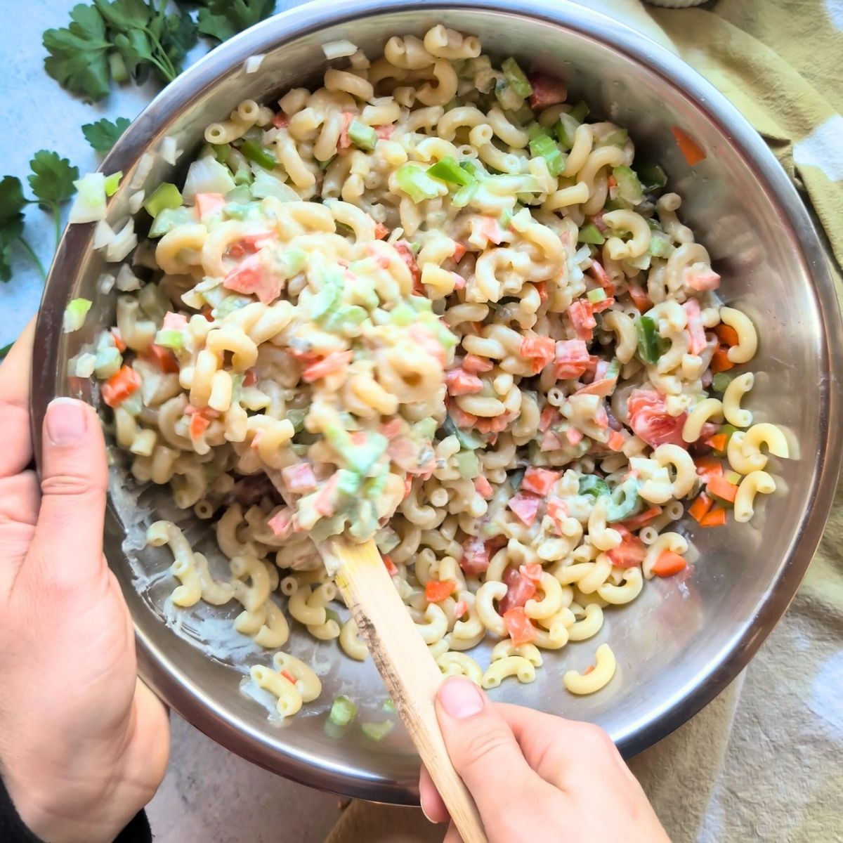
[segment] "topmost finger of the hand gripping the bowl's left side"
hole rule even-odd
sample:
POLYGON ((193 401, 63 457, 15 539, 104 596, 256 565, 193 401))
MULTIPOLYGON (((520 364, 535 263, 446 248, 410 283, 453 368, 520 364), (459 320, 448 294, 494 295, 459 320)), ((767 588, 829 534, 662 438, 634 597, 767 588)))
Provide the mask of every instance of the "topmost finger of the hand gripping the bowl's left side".
POLYGON ((32 459, 30 373, 34 338, 33 318, 0 365, 0 477, 19 474, 32 459))

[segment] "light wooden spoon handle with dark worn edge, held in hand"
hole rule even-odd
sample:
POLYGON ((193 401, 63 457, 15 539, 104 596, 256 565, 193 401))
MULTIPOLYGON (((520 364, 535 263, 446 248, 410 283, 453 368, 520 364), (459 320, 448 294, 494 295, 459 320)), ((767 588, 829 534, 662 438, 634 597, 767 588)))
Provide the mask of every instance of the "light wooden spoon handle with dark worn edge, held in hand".
POLYGON ((328 570, 336 569, 336 584, 464 843, 486 843, 480 814, 448 758, 433 707, 442 673, 378 548, 372 540, 362 545, 329 540, 319 550, 328 570))

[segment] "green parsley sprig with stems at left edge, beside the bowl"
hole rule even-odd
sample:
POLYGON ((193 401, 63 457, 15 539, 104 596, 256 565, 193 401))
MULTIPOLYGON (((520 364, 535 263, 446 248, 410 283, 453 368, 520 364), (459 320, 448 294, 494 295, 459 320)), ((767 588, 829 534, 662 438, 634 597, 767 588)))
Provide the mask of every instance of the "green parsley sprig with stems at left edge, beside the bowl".
POLYGON ((62 234, 60 206, 76 192, 73 182, 79 178, 78 167, 72 167, 67 158, 41 149, 30 161, 32 170, 28 181, 35 199, 24 196, 20 179, 13 175, 0 180, 0 281, 12 278, 12 247, 19 245, 33 260, 42 278, 46 279, 44 266, 35 250, 24 237, 24 207, 37 204, 51 212, 56 225, 56 246, 62 234))

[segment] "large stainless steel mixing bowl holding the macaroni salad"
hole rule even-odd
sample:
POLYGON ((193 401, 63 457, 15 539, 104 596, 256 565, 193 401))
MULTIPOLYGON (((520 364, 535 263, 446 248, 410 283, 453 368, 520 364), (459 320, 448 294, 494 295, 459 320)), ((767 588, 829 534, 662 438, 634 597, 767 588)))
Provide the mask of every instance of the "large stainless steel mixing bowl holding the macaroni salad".
MULTIPOLYGON (((635 754, 711 701, 760 647, 813 556, 839 469, 843 425, 835 362, 839 368, 843 331, 834 288, 808 213, 741 115, 668 51, 562 0, 313 3, 217 47, 148 106, 103 164, 106 172, 125 174, 110 222, 126 217, 142 154, 165 136, 178 138, 185 154, 175 172, 156 158, 153 183, 183 177, 204 127, 240 100, 268 101, 313 82, 325 66, 321 44, 348 39, 375 55, 389 36, 422 35, 437 23, 479 35, 492 56, 513 55, 526 67, 566 78, 575 99, 627 126, 642 158, 663 164, 683 196, 685 222, 722 274, 725 297, 758 326, 753 410, 785 428, 796 457, 776 465, 779 491, 751 524, 719 530, 694 524, 700 560, 685 583, 653 580, 625 611, 607 613, 596 639, 550 653, 533 685, 504 683, 493 692, 499 700, 598 722, 625 754, 635 754), (266 57, 258 72, 247 74, 244 61, 255 54, 266 57), (693 169, 672 125, 706 150, 693 169), (597 695, 568 695, 562 673, 583 668, 609 638, 618 660, 615 679, 597 695)), ((36 441, 54 395, 94 397, 88 381, 65 374, 78 346, 113 324, 113 298, 96 293, 103 266, 91 248, 93 228, 67 231, 47 282, 33 372, 36 441), (63 335, 65 305, 77 296, 94 299, 94 308, 83 330, 63 335)), ((375 743, 359 731, 338 739, 325 729, 325 712, 341 693, 363 701, 363 719, 384 720, 384 690, 371 661, 352 663, 336 644, 316 646, 308 636, 293 635, 293 652, 322 664, 325 691, 308 715, 270 722, 266 706, 239 690, 248 663, 258 658, 250 642, 228 632, 230 621, 221 620, 218 609, 174 615, 165 604, 173 586, 169 557, 140 549, 138 524, 148 523, 153 507, 166 510, 168 493, 136 490, 119 461, 112 479, 105 552, 132 610, 143 678, 197 728, 271 771, 353 797, 414 803, 418 760, 403 730, 375 743)), ((201 547, 201 531, 189 535, 201 547)))

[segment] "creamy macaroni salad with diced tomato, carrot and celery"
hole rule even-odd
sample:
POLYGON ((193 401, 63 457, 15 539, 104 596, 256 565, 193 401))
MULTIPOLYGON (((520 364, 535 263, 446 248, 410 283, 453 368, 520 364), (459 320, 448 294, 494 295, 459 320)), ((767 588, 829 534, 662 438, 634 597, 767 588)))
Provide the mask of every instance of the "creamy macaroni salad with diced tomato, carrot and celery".
MULTIPOLYGON (((560 79, 441 25, 371 62, 325 54, 324 87, 242 102, 181 189, 142 197, 149 239, 76 373, 101 381, 137 480, 169 484, 228 558, 217 581, 153 524, 175 604, 237 601, 235 628, 278 650, 280 592, 362 660, 312 540, 374 536, 443 673, 530 682, 542 650, 681 576, 686 507, 747 521, 775 490, 766 450, 787 442, 742 405, 753 374, 727 373, 754 326, 663 170, 560 79)), ((614 672, 604 644, 564 685, 614 672)), ((280 650, 252 678, 283 716, 319 695, 280 650)))

